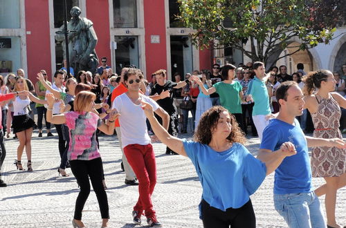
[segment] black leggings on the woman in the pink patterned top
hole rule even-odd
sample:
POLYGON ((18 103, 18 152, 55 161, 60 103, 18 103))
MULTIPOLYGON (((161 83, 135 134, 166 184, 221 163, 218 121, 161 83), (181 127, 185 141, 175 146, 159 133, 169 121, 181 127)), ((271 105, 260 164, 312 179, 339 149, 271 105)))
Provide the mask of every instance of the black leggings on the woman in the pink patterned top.
POLYGON ((82 210, 90 193, 90 182, 93 185, 98 206, 100 207, 101 217, 109 218, 109 207, 107 193, 102 184, 102 160, 96 158, 93 160, 70 160, 71 171, 75 175, 80 185, 80 193, 75 201, 75 220, 82 220, 82 210))

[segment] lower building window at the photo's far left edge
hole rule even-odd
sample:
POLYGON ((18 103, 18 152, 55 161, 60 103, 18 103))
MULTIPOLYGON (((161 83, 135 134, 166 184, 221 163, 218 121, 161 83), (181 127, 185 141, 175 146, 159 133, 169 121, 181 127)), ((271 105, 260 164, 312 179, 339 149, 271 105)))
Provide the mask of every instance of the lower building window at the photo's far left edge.
POLYGON ((0 37, 0 63, 1 73, 15 72, 21 68, 20 37, 0 37))

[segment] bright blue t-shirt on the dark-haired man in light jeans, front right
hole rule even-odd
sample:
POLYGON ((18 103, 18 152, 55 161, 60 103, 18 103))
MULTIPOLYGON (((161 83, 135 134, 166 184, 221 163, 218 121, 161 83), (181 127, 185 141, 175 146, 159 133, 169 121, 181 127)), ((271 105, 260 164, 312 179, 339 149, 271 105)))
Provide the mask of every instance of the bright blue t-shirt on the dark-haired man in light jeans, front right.
POLYGON ((297 154, 284 158, 275 170, 274 193, 308 193, 311 191, 311 167, 307 140, 298 120, 294 126, 281 120, 270 120, 263 131, 260 149, 276 151, 284 142, 291 142, 297 154))

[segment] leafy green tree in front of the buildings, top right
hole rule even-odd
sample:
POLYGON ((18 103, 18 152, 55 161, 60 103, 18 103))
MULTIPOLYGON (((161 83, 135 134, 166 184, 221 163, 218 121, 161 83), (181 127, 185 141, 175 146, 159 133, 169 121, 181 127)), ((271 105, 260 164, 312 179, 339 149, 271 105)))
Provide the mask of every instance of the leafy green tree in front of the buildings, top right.
MULTIPOLYGON (((234 47, 253 61, 266 63, 299 37, 299 50, 329 44, 345 23, 343 0, 179 0, 185 27, 194 28, 199 48, 234 47), (215 41, 216 40, 216 41, 215 41), (250 41, 251 50, 244 44, 250 41)), ((286 55, 284 55, 286 56, 286 55)), ((282 57, 284 57, 282 56, 282 57)))

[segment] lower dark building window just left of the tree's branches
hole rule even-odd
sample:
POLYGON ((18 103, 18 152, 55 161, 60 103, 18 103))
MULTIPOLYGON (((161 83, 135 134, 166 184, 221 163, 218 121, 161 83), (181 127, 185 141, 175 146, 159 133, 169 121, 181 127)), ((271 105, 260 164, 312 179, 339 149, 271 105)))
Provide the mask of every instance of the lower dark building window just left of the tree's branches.
POLYGON ((186 73, 192 73, 192 44, 188 36, 171 36, 171 72, 180 73, 185 75, 186 73))

